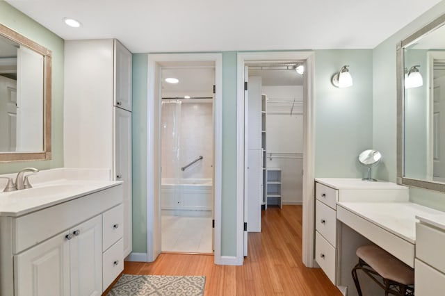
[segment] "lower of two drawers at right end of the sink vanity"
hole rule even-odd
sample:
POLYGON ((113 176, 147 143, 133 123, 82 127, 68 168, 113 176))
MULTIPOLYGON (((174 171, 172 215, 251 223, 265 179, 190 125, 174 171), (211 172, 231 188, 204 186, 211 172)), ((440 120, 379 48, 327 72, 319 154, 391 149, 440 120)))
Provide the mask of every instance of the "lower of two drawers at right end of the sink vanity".
POLYGON ((124 270, 124 241, 121 238, 102 256, 102 288, 106 290, 122 270, 124 270))

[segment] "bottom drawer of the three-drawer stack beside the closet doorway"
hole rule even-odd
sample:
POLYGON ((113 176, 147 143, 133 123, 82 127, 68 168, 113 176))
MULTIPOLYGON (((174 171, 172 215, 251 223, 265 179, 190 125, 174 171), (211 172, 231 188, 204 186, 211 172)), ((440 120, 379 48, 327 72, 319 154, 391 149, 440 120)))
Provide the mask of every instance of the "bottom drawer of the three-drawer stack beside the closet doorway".
POLYGON ((315 232, 315 260, 335 284, 335 249, 318 231, 315 232))

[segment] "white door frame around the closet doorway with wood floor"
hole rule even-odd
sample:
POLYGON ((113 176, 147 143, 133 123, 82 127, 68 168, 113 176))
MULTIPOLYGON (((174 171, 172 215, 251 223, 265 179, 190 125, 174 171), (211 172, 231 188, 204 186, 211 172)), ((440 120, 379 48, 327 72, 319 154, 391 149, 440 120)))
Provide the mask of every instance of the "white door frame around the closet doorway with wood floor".
MULTIPOLYGON (((239 143, 236 151, 236 259, 243 262, 244 251, 244 203, 245 203, 245 106, 244 106, 244 67, 249 62, 283 60, 305 61, 303 95, 303 196, 302 196, 302 262, 314 267, 314 51, 274 51, 243 52, 237 56, 237 122, 236 138, 239 143)), ((247 197, 246 197, 247 198, 247 197)))

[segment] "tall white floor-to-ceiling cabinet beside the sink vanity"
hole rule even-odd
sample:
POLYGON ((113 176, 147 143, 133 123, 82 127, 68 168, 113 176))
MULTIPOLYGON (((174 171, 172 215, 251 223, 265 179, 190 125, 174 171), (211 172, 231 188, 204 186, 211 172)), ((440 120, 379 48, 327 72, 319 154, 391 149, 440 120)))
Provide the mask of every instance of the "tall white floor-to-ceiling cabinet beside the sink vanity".
POLYGON ((132 249, 132 56, 118 40, 65 41, 65 167, 124 181, 124 256, 132 249))

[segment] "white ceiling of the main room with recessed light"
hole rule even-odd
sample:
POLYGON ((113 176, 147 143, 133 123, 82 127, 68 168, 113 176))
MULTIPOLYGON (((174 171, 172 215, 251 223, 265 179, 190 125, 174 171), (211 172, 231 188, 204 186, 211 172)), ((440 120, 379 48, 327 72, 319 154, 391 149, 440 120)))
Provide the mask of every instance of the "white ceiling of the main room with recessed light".
POLYGON ((133 53, 372 49, 439 1, 7 0, 65 40, 118 38, 133 53))

